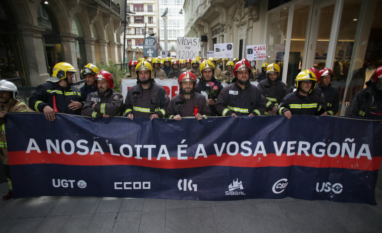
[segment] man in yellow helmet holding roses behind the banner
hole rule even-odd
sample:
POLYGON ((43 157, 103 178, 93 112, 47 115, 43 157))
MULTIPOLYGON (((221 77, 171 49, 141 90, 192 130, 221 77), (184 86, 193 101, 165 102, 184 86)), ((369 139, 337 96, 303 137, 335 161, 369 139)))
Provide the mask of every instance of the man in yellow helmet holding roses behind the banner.
POLYGON ((199 83, 196 84, 195 92, 205 96, 209 109, 211 110, 211 116, 216 116, 215 102, 217 96, 219 96, 219 93, 223 89, 222 83, 215 79, 215 65, 211 61, 202 61, 199 66, 199 71, 201 73, 201 79, 199 83))

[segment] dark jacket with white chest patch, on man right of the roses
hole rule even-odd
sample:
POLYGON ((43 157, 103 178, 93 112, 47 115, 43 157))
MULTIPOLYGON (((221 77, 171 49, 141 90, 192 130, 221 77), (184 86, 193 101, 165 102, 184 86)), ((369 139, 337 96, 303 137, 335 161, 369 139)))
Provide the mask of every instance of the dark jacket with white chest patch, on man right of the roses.
POLYGON ((220 93, 215 103, 217 113, 222 116, 264 115, 265 98, 260 90, 248 82, 242 89, 238 82, 226 86, 220 93))

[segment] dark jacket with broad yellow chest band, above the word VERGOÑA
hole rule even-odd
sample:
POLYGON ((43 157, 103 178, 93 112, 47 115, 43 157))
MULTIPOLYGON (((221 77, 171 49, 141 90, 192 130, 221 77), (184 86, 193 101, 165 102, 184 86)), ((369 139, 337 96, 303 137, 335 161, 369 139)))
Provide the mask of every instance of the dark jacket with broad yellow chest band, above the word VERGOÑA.
POLYGON ((281 101, 277 113, 283 115, 286 111, 291 111, 292 115, 315 115, 319 116, 325 112, 325 106, 319 104, 319 99, 313 92, 308 96, 303 96, 296 90, 288 94, 281 101))

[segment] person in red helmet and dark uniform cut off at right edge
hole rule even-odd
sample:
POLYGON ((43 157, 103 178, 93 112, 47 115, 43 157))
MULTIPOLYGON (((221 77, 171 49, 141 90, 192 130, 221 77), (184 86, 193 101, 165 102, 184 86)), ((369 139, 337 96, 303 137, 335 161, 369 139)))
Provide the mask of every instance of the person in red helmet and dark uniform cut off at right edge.
POLYGON ((352 98, 347 116, 382 119, 382 66, 375 69, 366 86, 352 98))

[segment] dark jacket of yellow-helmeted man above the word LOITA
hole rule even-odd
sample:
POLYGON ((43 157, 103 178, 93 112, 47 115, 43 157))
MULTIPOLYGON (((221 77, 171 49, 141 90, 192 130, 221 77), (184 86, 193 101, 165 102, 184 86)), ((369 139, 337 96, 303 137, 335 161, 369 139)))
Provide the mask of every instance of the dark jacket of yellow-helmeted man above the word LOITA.
POLYGON ((123 109, 125 116, 133 114, 134 117, 150 117, 156 113, 160 118, 164 118, 169 103, 166 90, 151 82, 148 89, 143 89, 141 84, 131 87, 127 92, 123 109))

